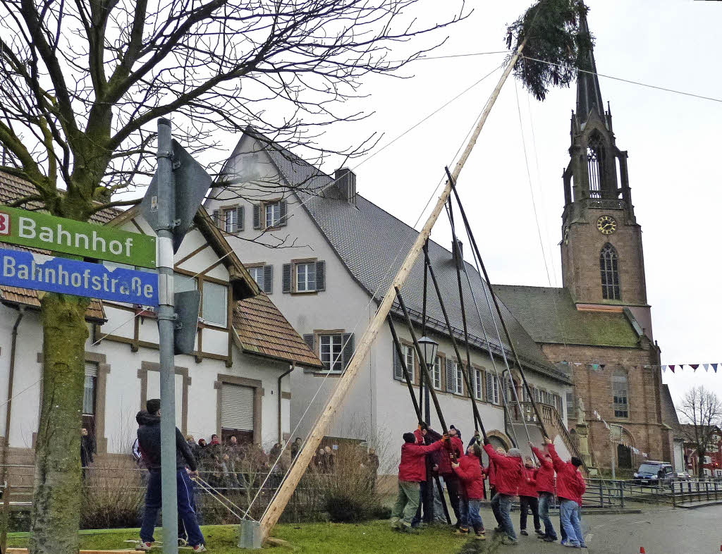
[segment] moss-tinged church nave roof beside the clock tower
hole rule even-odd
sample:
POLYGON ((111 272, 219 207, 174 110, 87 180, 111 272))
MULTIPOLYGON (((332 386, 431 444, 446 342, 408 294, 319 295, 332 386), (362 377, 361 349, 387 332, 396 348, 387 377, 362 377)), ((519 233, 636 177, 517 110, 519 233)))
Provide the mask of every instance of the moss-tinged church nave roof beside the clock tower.
POLYGON ((567 289, 494 285, 494 290, 538 343, 639 346, 623 312, 578 310, 567 289))

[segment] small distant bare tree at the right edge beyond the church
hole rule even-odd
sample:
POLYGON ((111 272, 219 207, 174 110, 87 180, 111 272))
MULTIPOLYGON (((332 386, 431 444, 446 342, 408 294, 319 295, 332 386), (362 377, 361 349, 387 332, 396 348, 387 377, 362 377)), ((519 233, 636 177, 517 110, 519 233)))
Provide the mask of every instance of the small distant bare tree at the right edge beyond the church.
POLYGON ((692 387, 682 398, 677 408, 682 415, 682 434, 685 442, 693 445, 697 452, 697 477, 704 477, 705 453, 710 449, 722 426, 722 400, 705 387, 692 387))

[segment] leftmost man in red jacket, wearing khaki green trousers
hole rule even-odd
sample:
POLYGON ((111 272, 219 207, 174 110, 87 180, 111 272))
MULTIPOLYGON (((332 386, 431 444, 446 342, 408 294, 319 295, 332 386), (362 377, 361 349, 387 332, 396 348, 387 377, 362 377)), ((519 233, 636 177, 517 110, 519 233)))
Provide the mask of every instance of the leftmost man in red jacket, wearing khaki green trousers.
POLYGON ((404 444, 401 446, 401 463, 399 464, 399 495, 391 511, 391 527, 401 531, 411 530, 411 522, 419 509, 419 496, 421 481, 426 480, 425 455, 440 449, 445 436, 433 444, 416 444, 417 438, 413 433, 404 433, 404 444), (401 519, 401 516, 403 518, 401 519))

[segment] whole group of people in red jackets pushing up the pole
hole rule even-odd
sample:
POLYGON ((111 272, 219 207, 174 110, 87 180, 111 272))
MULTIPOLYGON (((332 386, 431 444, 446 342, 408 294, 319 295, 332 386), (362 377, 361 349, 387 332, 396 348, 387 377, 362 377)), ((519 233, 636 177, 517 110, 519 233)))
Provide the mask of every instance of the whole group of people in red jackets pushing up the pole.
POLYGON ((419 504, 432 496, 432 483, 427 485, 427 477, 433 473, 443 478, 446 485, 457 519, 456 534, 468 536, 473 530, 478 540, 484 540, 484 524, 479 509, 486 498, 484 480, 488 479, 492 512, 497 521, 495 531, 503 533, 505 544, 518 542, 510 516, 516 496, 521 508, 521 534, 529 535, 526 520, 528 511, 531 511, 536 535, 547 542, 556 541, 558 537, 549 517, 549 506, 557 496, 562 545, 586 548, 581 530, 582 495, 586 490, 586 482, 579 471, 581 460, 572 457, 568 462, 563 461, 552 441, 545 437, 542 449, 529 443, 539 460, 537 467, 531 457, 522 460, 519 449, 511 448, 508 452, 502 447, 495 449, 484 439, 483 449, 490 460, 489 465, 484 467, 481 443, 477 431, 464 450, 461 433, 453 426, 443 436, 425 423, 419 423, 414 433, 405 433, 399 464, 399 493, 391 513, 391 526, 411 532, 423 525, 419 504))

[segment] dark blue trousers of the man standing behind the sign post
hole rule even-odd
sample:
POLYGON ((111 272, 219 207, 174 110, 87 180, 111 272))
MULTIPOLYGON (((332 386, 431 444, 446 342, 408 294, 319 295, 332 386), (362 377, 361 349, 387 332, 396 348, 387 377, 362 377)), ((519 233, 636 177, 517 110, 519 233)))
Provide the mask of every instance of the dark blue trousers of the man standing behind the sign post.
MULTIPOLYGON (((196 512, 191 508, 191 489, 193 487, 191 478, 185 469, 175 472, 175 485, 178 491, 178 515, 183 519, 183 525, 188 533, 188 545, 202 545, 206 540, 198 527, 196 512)), ((153 531, 155 520, 160 510, 161 489, 160 470, 152 470, 148 479, 148 489, 145 493, 145 511, 143 512, 143 524, 140 528, 140 539, 143 542, 155 542, 153 531)))

